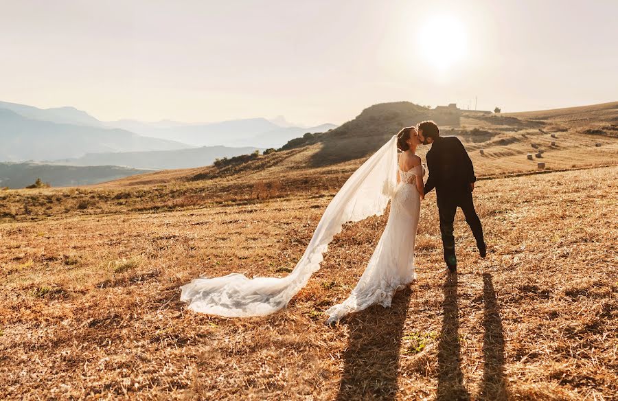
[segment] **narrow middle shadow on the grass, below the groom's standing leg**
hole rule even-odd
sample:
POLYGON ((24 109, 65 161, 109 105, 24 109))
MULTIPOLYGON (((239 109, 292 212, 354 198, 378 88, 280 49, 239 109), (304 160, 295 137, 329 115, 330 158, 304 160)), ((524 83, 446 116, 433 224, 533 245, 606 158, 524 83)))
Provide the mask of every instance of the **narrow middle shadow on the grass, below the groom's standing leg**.
POLYGON ((437 355, 437 400, 470 400, 470 393, 464 386, 464 373, 461 371, 457 273, 446 275, 442 308, 442 332, 440 332, 437 355))

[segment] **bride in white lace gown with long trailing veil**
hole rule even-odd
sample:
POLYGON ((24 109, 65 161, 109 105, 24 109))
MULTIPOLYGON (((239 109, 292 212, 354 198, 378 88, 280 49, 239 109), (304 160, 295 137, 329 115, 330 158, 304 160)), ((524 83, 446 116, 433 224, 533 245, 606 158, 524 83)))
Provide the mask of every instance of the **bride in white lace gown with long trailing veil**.
POLYGON ((181 286, 181 301, 196 312, 225 317, 271 314, 285 308, 319 269, 328 244, 346 222, 391 211, 378 245, 350 297, 326 310, 327 323, 379 303, 391 306, 394 293, 416 278, 414 243, 425 174, 415 154, 416 128, 400 130, 343 184, 324 211, 305 253, 286 277, 248 277, 230 273, 198 278, 181 286), (397 157, 397 149, 402 151, 397 157))

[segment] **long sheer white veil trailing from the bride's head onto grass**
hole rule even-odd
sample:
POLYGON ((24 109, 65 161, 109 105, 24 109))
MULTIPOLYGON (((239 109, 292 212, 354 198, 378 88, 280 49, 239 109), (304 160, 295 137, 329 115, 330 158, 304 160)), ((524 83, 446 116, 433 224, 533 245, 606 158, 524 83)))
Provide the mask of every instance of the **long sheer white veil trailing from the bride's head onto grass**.
POLYGON ((320 268, 328 244, 346 222, 382 215, 396 187, 397 136, 394 135, 350 176, 324 211, 305 253, 286 277, 230 273, 198 278, 181 286, 181 301, 196 312, 225 317, 271 314, 285 308, 320 268))

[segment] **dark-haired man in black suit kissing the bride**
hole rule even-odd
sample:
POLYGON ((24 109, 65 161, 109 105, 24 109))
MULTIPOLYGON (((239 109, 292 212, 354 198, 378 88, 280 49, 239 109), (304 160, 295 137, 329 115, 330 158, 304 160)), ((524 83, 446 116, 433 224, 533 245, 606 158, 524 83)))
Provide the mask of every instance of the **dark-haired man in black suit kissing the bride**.
POLYGON ((433 190, 437 198, 440 217, 440 233, 444 247, 444 262, 451 272, 457 271, 455 257, 455 237, 453 237, 453 220, 457 207, 461 207, 466 216, 466 222, 472 229, 481 257, 485 257, 487 247, 483 240, 483 227, 472 203, 474 190, 474 168, 468 152, 457 137, 441 137, 440 131, 433 121, 418 124, 418 139, 424 145, 432 144, 427 152, 427 168, 429 177, 424 192, 433 190))

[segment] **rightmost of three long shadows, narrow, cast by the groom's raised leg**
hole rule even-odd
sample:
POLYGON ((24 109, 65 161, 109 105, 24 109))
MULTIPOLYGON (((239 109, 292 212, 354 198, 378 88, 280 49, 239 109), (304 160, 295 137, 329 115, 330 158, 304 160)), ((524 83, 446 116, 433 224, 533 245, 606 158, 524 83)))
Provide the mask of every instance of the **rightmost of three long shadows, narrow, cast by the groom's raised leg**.
POLYGON ((504 374, 504 331, 498 308, 498 299, 492 282, 492 275, 483 274, 483 382, 479 400, 508 400, 506 379, 504 374))

